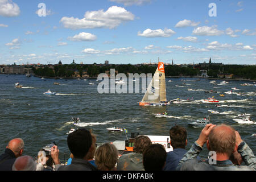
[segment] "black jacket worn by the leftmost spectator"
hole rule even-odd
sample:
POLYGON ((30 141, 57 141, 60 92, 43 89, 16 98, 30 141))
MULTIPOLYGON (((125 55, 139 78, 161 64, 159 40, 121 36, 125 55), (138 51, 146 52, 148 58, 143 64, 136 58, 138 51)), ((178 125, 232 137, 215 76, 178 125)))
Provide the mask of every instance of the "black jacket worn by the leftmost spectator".
POLYGON ((5 153, 0 155, 0 171, 13 171, 15 160, 14 152, 6 148, 5 153))

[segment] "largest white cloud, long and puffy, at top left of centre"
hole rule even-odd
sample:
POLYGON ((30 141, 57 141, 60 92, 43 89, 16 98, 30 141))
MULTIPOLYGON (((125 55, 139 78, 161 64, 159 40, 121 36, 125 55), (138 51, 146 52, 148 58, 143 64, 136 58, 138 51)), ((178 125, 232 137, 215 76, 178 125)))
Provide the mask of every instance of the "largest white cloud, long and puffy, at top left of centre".
POLYGON ((61 18, 65 28, 115 28, 122 22, 134 20, 134 15, 123 7, 112 6, 108 10, 86 11, 84 18, 61 18))

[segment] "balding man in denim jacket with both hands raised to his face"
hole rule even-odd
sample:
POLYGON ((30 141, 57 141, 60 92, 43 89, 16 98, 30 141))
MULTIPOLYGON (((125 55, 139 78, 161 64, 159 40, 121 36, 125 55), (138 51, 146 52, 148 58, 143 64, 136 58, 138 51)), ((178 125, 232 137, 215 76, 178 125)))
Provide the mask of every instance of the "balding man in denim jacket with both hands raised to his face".
POLYGON ((176 170, 181 171, 250 171, 256 169, 256 158, 253 151, 240 137, 238 131, 228 125, 208 124, 201 131, 199 139, 180 160, 176 170), (196 160, 203 150, 204 144, 215 156, 210 156, 207 162, 196 160), (230 156, 234 152, 241 154, 246 166, 232 163, 230 156), (213 159, 213 160, 212 160, 213 159))

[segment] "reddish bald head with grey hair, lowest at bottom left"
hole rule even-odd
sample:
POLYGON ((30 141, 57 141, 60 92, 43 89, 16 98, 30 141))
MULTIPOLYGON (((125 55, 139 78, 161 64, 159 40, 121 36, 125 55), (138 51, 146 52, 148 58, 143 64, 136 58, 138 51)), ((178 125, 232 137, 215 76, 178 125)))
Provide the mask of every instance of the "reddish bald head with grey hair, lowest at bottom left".
POLYGON ((35 171, 36 162, 28 155, 18 157, 13 164, 13 171, 35 171))

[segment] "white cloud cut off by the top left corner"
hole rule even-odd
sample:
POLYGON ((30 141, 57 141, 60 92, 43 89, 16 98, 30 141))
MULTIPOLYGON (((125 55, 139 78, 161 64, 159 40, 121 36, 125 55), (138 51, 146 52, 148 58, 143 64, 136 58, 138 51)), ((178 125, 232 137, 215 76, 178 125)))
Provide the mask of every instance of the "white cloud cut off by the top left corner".
POLYGON ((0 16, 13 17, 20 14, 19 6, 11 0, 0 0, 0 16))

